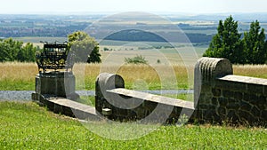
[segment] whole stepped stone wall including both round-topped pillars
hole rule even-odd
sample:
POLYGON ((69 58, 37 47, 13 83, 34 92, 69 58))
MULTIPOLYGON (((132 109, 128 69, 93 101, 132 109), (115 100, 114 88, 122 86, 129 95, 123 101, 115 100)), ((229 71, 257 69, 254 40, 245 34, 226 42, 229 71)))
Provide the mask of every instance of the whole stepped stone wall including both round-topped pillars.
MULTIPOLYGON (((96 81, 97 114, 111 120, 267 124, 267 80, 232 75, 228 59, 202 58, 195 66, 194 103, 125 90, 120 75, 103 73, 96 81), (156 112, 156 113, 155 113, 156 112)), ((145 121, 146 122, 146 121, 145 121)))

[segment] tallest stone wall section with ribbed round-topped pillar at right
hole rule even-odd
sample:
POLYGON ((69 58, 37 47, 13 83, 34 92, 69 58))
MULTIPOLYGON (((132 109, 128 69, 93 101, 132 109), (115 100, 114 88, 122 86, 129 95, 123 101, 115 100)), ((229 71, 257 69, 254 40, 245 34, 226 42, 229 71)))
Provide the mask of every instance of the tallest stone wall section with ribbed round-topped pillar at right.
POLYGON ((194 94, 198 122, 266 125, 267 80, 232 75, 227 59, 198 60, 194 94))

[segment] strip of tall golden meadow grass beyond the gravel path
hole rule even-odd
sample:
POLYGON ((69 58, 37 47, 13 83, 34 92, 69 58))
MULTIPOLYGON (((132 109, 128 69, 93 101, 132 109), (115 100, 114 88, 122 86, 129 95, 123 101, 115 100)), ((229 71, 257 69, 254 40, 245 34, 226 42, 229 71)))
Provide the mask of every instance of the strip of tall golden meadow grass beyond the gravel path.
MULTIPOLYGON (((146 65, 125 65, 121 67, 101 68, 101 64, 76 64, 73 72, 77 79, 77 90, 94 90, 95 80, 103 70, 117 73, 125 79, 127 89, 156 90, 156 89, 192 89, 189 83, 187 69, 174 65, 174 75, 177 86, 172 79, 164 77, 161 81, 158 72, 164 72, 165 66, 158 65, 157 69, 146 65), (157 70, 157 71, 156 71, 157 70), (164 83, 164 84, 161 84, 164 83)), ((193 67, 190 67, 192 69, 193 67)), ((267 79, 267 65, 233 66, 234 75, 247 75, 267 79)), ((35 76, 38 73, 36 63, 6 62, 0 63, 0 90, 35 90, 35 76)), ((191 81, 192 82, 192 81, 191 81)))

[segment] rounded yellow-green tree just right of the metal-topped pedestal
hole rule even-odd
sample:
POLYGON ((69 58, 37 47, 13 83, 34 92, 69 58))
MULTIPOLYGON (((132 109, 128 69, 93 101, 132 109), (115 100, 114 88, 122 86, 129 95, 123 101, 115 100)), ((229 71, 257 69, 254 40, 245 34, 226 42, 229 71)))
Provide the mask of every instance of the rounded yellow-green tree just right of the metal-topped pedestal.
POLYGON ((68 36, 69 52, 77 62, 96 63, 101 62, 98 43, 93 37, 83 31, 77 31, 68 36))

